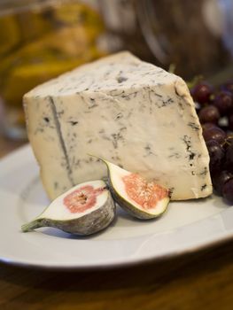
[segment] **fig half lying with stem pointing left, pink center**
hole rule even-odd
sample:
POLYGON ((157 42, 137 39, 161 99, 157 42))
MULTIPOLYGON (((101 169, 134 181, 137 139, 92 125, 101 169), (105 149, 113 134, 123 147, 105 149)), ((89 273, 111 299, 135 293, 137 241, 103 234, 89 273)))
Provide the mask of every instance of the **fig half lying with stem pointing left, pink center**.
POLYGON ((23 232, 42 227, 90 235, 105 229, 114 219, 115 205, 104 181, 85 182, 56 198, 23 232))

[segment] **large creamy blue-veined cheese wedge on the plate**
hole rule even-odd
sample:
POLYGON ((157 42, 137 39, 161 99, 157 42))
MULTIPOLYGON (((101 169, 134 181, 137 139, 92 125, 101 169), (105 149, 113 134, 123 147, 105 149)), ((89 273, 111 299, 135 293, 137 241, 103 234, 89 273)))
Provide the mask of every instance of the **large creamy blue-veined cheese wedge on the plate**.
POLYGON ((24 97, 27 131, 51 199, 105 178, 88 154, 155 181, 172 199, 212 193, 209 156, 185 82, 129 52, 48 81, 24 97))

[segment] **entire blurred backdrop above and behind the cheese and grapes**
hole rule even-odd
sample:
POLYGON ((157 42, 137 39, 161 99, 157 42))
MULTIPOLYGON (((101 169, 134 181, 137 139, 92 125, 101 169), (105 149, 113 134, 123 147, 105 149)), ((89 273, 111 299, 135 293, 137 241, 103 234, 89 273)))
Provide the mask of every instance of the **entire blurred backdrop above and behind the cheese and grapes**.
POLYGON ((233 0, 0 0, 0 132, 27 139, 22 96, 117 50, 191 81, 233 76, 233 0))

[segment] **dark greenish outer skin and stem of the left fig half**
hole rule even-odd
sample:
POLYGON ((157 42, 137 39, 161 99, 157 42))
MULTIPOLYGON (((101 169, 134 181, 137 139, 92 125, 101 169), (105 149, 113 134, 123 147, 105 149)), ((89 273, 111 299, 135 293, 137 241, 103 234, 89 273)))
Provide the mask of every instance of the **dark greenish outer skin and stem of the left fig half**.
POLYGON ((108 227, 114 220, 115 213, 115 204, 112 195, 109 192, 105 205, 102 205, 99 209, 83 215, 78 219, 58 221, 46 218, 37 218, 34 221, 30 221, 23 225, 21 230, 22 232, 29 232, 43 227, 52 227, 61 229, 66 233, 73 235, 89 236, 108 227))

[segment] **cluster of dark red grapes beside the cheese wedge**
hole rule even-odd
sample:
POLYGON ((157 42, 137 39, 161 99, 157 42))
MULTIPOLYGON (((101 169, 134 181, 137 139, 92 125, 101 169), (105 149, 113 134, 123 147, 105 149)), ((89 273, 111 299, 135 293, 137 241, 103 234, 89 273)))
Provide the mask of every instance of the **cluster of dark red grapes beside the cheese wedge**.
POLYGON ((190 93, 210 155, 214 190, 233 203, 233 80, 219 89, 202 81, 190 93))

